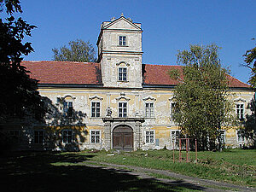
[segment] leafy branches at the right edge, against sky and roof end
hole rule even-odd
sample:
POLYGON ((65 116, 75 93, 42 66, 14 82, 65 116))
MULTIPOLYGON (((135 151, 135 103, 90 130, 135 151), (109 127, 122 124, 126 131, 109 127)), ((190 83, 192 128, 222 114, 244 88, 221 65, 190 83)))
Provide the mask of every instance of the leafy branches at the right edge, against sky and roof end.
MULTIPOLYGON (((255 40, 253 38, 253 40, 255 40)), ((249 79, 249 83, 256 88, 256 47, 253 49, 248 49, 244 56, 244 61, 246 62, 246 67, 251 69, 251 78, 249 79)))

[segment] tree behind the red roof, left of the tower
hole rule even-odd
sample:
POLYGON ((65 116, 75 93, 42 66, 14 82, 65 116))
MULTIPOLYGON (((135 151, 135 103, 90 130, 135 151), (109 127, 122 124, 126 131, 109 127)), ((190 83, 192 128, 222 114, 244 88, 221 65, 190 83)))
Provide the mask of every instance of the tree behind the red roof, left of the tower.
POLYGON ((81 39, 70 41, 60 49, 52 49, 54 53, 54 61, 79 61, 79 62, 95 62, 96 52, 90 42, 84 42, 81 39))

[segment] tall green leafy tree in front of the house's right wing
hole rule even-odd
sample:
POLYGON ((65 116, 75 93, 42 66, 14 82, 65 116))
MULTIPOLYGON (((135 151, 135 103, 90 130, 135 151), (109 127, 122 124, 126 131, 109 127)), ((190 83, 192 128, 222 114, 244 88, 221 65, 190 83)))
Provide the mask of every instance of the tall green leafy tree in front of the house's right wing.
POLYGON ((189 50, 178 51, 177 62, 183 64, 183 73, 171 71, 177 79, 173 100, 176 102, 173 118, 187 137, 198 140, 199 148, 215 148, 216 140, 222 146, 221 130, 234 124, 227 70, 221 67, 218 46, 190 45, 189 50))

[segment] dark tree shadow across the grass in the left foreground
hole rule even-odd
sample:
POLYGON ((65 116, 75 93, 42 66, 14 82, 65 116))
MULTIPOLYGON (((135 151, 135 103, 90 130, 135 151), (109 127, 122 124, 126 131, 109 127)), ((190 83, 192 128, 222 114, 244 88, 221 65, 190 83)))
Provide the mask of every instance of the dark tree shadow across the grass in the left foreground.
POLYGON ((183 181, 161 183, 154 178, 138 178, 136 175, 131 175, 130 171, 75 165, 75 163, 89 160, 92 156, 45 152, 19 153, 2 157, 0 159, 1 191, 181 191, 183 189, 204 189, 183 181))

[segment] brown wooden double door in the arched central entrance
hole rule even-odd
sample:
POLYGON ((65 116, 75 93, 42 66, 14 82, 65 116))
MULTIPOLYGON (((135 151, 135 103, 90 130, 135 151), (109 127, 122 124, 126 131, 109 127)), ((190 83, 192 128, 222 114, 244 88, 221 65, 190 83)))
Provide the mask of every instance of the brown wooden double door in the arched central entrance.
POLYGON ((133 150, 133 132, 130 126, 120 125, 113 129, 113 148, 117 150, 133 150))

